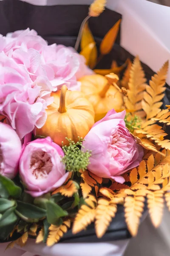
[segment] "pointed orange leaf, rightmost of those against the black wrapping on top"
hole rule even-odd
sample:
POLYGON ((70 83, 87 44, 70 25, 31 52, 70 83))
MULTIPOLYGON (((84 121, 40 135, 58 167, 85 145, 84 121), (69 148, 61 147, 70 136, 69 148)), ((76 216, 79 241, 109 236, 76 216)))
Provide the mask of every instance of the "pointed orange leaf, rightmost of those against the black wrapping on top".
POLYGON ((117 34, 119 32, 121 19, 108 31, 100 44, 100 52, 102 55, 108 54, 116 41, 117 34))

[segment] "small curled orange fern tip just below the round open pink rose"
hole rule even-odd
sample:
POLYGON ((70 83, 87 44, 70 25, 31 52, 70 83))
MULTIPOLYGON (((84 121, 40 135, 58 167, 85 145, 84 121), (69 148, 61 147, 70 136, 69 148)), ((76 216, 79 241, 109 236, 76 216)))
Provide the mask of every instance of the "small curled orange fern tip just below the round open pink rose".
POLYGON ((65 197, 72 197, 76 192, 77 192, 77 187, 74 184, 74 181, 69 180, 67 184, 60 186, 58 189, 52 192, 52 195, 60 193, 65 197))

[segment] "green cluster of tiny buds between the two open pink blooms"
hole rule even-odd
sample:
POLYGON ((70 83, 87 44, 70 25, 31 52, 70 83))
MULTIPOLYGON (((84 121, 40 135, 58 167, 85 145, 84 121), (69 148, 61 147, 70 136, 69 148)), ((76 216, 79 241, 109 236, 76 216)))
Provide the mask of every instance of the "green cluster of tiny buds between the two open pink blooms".
POLYGON ((91 152, 88 150, 85 152, 80 150, 83 142, 82 138, 79 138, 77 143, 68 138, 66 139, 70 142, 69 146, 62 146, 62 150, 65 154, 62 158, 62 162, 65 163, 66 170, 68 172, 84 171, 90 163, 89 157, 91 157, 91 152))

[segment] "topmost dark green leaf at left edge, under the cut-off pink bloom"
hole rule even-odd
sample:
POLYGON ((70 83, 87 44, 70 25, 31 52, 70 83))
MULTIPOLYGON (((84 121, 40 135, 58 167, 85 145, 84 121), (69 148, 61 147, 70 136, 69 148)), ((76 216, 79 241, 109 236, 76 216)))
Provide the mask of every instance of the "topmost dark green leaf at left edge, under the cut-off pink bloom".
POLYGON ((19 198, 22 192, 22 189, 19 186, 16 186, 15 183, 8 179, 5 176, 0 175, 0 184, 5 187, 8 194, 14 198, 19 198))

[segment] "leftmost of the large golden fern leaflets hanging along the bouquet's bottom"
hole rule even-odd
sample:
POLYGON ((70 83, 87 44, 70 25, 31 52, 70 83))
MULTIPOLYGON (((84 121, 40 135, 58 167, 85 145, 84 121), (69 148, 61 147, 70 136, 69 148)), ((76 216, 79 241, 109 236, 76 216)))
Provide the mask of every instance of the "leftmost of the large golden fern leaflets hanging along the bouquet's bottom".
POLYGON ((89 195, 87 199, 85 199, 85 204, 81 206, 79 209, 73 224, 72 232, 73 234, 77 234, 80 231, 84 230, 91 222, 95 219, 95 208, 96 208, 96 198, 93 195, 89 195))

